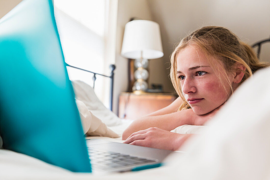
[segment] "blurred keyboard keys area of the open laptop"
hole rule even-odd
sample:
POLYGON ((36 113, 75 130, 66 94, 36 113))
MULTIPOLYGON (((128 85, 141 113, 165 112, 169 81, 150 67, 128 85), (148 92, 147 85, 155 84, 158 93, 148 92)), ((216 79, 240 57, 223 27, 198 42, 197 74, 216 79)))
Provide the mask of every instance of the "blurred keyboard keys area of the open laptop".
POLYGON ((101 151, 91 147, 88 148, 89 158, 93 169, 112 171, 120 168, 138 166, 157 162, 157 159, 146 159, 128 154, 101 151))

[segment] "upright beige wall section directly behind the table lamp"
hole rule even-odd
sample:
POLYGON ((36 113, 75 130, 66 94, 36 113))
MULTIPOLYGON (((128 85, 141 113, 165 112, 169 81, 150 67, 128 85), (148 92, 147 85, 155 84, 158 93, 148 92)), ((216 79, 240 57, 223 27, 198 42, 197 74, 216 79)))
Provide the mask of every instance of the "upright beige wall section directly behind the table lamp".
MULTIPOLYGON (((121 53, 122 41, 124 35, 124 27, 130 18, 136 17, 138 19, 153 21, 152 13, 149 9, 149 4, 146 0, 118 0, 118 14, 117 14, 117 30, 116 30, 116 77, 114 86, 114 103, 118 102, 120 92, 126 92, 128 88, 128 74, 127 74, 127 59, 123 58, 121 53), (117 98, 117 99, 116 99, 117 98)), ((163 51, 167 47, 163 46, 163 51)), ((172 85, 166 68, 169 64, 165 63, 167 59, 151 59, 149 60, 149 79, 148 84, 162 84, 164 91, 170 92, 172 85)), ((114 104, 114 107, 118 104, 114 104)), ((115 112, 115 111, 114 111, 115 112)))

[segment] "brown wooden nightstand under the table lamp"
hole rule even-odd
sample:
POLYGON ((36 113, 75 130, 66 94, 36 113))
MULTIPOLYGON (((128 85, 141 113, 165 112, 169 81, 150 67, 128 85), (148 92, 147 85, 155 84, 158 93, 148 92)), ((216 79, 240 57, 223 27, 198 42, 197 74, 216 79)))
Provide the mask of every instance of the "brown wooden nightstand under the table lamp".
POLYGON ((122 92, 119 96, 118 115, 124 119, 137 119, 164 108, 176 99, 173 93, 122 92))

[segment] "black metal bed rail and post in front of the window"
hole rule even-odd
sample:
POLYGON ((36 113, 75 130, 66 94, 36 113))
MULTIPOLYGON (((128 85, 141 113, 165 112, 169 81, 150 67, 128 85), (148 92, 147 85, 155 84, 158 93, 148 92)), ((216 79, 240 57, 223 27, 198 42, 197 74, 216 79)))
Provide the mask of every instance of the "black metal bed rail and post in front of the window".
POLYGON ((108 77, 110 78, 110 97, 109 97, 109 109, 112 111, 113 110, 113 79, 114 79, 114 69, 115 69, 115 65, 111 64, 110 65, 110 70, 111 70, 111 74, 110 76, 107 76, 107 75, 104 75, 104 74, 99 74, 99 73, 96 73, 96 72, 92 72, 92 71, 88 71, 86 69, 82 69, 82 68, 78 68, 78 67, 75 67, 75 66, 72 66, 72 65, 69 65, 66 63, 66 66, 69 66, 69 67, 72 67, 72 68, 76 68, 76 69, 80 69, 80 70, 83 70, 83 71, 86 71, 86 72, 90 72, 93 74, 93 89, 95 88, 95 81, 96 81, 96 75, 100 75, 100 76, 104 76, 104 77, 108 77))

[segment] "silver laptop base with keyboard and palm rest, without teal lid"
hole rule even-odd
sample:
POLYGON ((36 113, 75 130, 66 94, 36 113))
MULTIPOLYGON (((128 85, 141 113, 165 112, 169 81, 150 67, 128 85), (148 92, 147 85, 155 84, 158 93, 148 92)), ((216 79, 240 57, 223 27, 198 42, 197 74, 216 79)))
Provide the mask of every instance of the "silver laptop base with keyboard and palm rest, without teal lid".
POLYGON ((162 165, 172 151, 104 141, 86 140, 93 171, 138 171, 162 165))

